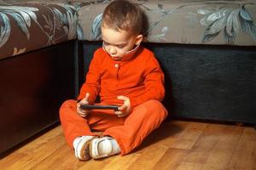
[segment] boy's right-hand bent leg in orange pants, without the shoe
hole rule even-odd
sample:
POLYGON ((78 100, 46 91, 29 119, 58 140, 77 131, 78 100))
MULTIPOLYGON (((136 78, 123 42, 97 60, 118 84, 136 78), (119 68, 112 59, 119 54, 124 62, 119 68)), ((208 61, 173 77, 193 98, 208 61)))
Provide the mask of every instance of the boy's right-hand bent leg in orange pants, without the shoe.
POLYGON ((124 125, 109 127, 103 135, 116 139, 121 149, 121 156, 124 156, 159 127, 166 116, 165 107, 157 100, 150 100, 134 108, 131 115, 125 119, 124 125))

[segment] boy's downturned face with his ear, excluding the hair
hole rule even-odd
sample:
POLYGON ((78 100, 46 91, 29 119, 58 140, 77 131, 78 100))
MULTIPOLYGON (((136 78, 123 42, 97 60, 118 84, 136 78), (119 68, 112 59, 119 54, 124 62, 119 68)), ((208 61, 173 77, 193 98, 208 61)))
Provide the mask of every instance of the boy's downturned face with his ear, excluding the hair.
POLYGON ((128 31, 116 31, 102 26, 103 48, 114 60, 121 60, 125 54, 143 40, 142 35, 131 35, 128 31))

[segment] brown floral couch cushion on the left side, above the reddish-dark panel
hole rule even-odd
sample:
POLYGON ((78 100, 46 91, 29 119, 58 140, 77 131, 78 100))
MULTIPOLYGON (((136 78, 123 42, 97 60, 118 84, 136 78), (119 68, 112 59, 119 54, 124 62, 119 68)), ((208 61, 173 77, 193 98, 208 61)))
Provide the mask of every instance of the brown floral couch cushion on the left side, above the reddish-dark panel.
POLYGON ((0 59, 75 39, 76 10, 64 2, 0 1, 0 59))

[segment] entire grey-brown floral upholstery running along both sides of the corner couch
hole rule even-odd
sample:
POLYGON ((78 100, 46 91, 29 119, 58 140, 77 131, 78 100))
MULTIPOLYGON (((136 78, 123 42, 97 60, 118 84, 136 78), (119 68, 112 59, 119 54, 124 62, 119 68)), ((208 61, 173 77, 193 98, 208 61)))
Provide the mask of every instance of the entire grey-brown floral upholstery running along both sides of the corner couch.
MULTIPOLYGON (((112 0, 0 0, 0 59, 75 39, 101 39, 112 0)), ((131 0, 145 13, 145 42, 256 45, 256 1, 131 0)))

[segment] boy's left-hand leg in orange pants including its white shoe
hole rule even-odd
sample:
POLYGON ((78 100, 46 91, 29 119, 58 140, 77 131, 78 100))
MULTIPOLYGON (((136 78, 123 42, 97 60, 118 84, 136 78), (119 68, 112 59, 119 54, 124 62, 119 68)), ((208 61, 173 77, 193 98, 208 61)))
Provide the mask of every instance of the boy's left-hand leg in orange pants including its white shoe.
POLYGON ((104 131, 111 126, 124 123, 113 111, 91 111, 83 118, 79 116, 75 100, 67 100, 61 105, 60 118, 67 144, 74 149, 75 156, 81 161, 90 160, 90 140, 97 136, 90 129, 104 131))

